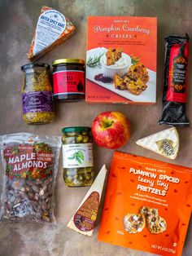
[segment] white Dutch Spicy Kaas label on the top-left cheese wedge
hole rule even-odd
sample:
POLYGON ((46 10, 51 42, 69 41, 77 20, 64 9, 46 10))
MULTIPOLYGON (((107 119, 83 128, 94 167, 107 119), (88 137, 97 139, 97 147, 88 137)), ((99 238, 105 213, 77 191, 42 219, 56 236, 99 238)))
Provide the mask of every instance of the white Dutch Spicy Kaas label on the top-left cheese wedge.
POLYGON ((38 19, 33 55, 55 42, 66 28, 65 16, 59 11, 44 11, 38 19))

